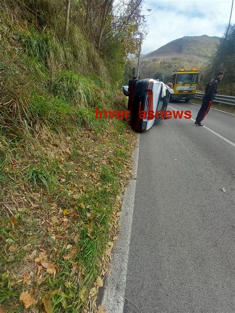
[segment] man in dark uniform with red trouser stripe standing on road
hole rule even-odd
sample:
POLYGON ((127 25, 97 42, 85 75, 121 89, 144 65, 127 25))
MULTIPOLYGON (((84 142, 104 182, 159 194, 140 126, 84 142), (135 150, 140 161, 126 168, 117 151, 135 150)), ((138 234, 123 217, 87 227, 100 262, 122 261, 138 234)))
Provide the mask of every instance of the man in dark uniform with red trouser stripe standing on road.
POLYGON ((208 113, 212 101, 215 98, 215 95, 218 90, 218 84, 221 82, 222 78, 224 77, 224 72, 219 71, 214 79, 209 81, 206 84, 205 95, 202 98, 202 106, 200 107, 199 112, 197 113, 195 125, 196 126, 203 126, 201 121, 204 119, 206 114, 208 113))

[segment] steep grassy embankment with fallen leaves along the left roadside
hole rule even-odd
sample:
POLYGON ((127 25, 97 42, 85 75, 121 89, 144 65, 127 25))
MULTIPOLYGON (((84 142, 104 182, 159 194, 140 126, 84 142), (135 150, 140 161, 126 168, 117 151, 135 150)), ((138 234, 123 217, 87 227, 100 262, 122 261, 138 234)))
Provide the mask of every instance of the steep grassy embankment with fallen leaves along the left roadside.
POLYGON ((1 18, 0 308, 92 312, 135 141, 95 107, 124 98, 79 29, 68 40, 1 18))

